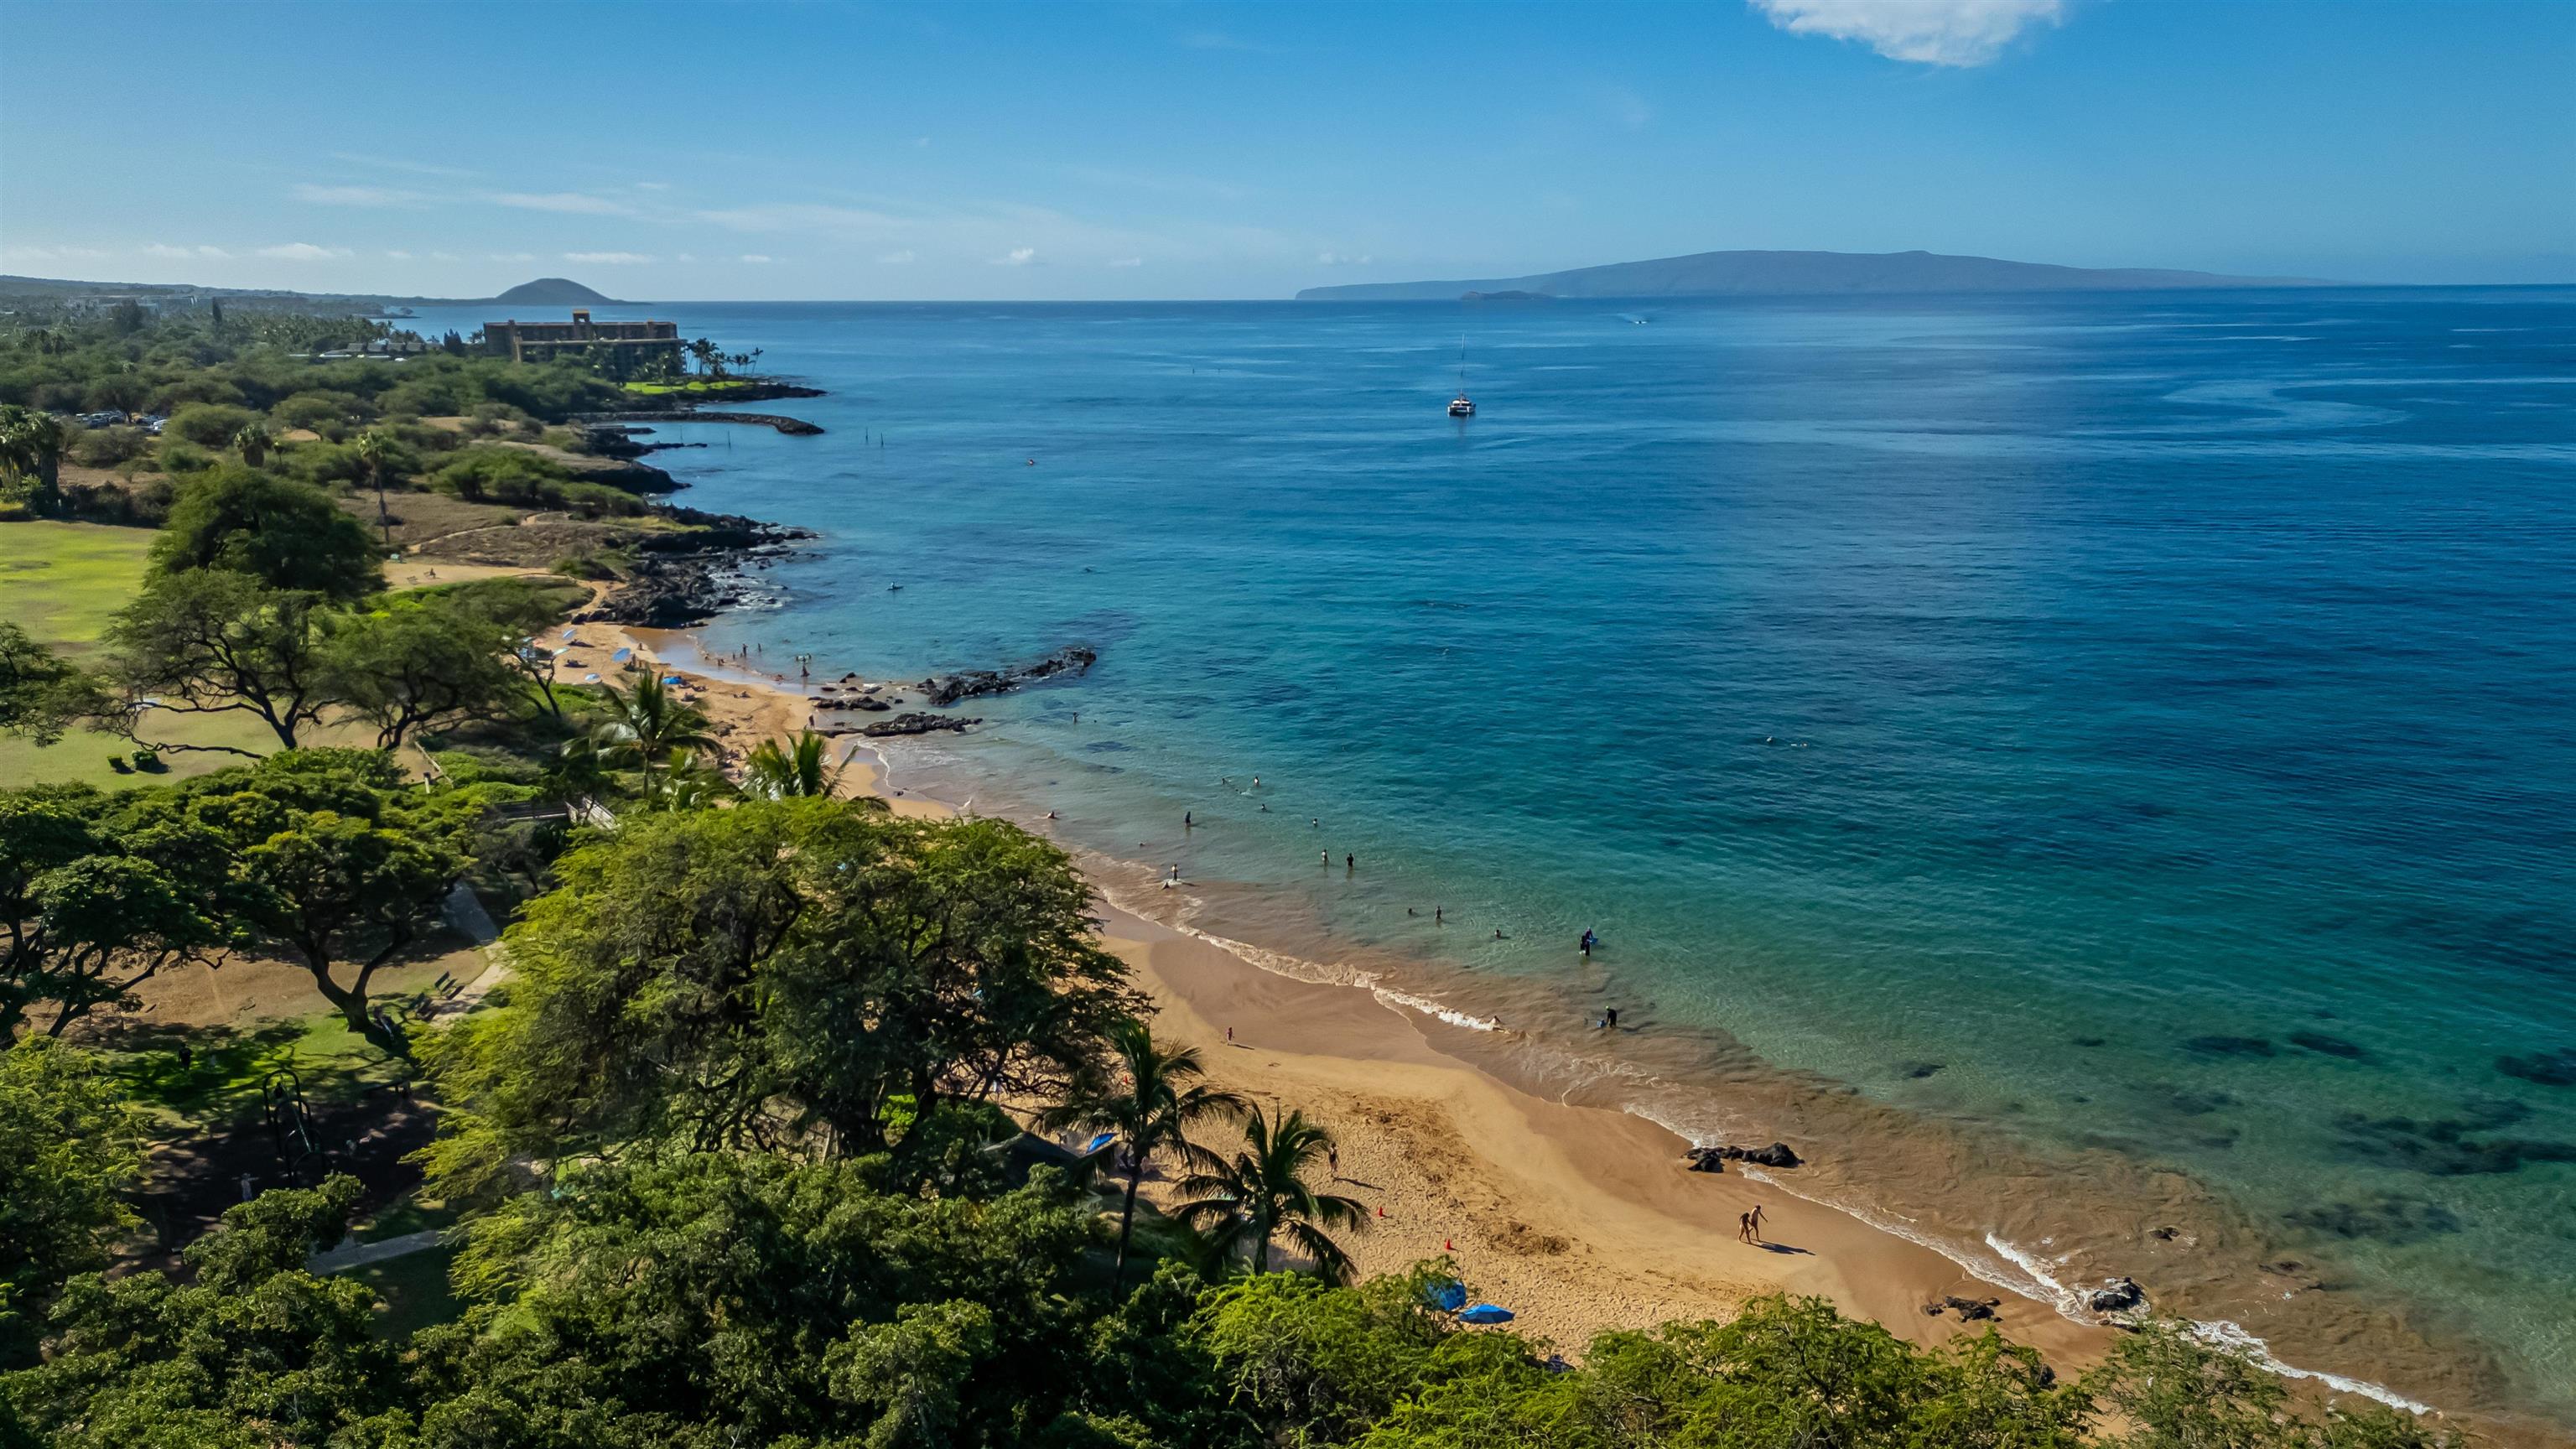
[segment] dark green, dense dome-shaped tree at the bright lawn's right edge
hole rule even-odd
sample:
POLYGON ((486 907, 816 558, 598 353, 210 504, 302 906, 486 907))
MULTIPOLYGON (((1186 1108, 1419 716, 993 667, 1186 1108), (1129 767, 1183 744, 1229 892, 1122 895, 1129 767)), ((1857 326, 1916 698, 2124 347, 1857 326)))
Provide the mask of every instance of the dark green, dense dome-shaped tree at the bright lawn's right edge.
POLYGON ((309 482, 216 467, 180 487, 152 541, 160 572, 229 570, 268 588, 361 598, 384 588, 366 526, 309 482))

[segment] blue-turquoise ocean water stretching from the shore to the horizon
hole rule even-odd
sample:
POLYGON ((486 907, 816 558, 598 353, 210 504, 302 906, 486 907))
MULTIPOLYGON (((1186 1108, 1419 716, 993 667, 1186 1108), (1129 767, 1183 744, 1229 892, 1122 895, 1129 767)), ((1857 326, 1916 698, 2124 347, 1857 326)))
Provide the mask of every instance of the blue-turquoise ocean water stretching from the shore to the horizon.
POLYGON ((824 534, 716 645, 1103 652, 917 768, 2099 1194, 1873 1145, 1963 1253, 2576 1421, 2576 1085, 2499 1070, 2576 1049, 2576 291, 670 312, 829 389, 665 431, 824 534))

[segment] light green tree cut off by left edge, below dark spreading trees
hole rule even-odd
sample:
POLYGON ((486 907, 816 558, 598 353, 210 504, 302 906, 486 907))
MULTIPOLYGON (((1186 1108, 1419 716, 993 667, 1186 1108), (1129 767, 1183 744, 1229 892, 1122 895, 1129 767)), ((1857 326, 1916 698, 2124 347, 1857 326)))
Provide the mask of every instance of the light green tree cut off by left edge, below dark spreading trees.
POLYGON ((142 1142, 142 1114, 98 1057, 46 1036, 0 1042, 0 1369, 31 1359, 31 1315, 72 1274, 106 1266, 134 1222, 124 1199, 142 1142))

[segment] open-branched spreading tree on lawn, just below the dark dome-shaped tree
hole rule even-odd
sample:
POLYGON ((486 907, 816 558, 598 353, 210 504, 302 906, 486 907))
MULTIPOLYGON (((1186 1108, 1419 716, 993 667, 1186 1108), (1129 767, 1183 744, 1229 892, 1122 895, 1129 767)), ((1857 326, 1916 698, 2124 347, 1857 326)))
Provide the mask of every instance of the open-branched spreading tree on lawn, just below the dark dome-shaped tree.
MULTIPOLYGON (((129 709, 252 714, 294 750, 330 706, 319 603, 232 570, 157 575, 108 624, 108 676, 129 709)), ((139 730, 142 717, 129 714, 126 727, 139 730)), ((252 755, 234 745, 155 748, 252 755)))

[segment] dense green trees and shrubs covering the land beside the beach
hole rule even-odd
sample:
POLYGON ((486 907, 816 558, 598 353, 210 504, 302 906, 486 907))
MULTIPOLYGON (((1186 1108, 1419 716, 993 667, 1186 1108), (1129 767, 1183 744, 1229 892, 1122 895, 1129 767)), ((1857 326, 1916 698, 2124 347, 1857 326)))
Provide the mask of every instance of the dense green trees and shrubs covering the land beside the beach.
MULTIPOLYGON (((358 405, 562 410, 580 374, 430 358, 317 387, 175 325, 39 348, 80 358, 52 371, 28 348, 0 345, 0 394, 124 379, 175 407, 165 449, 237 462, 188 469, 95 660, 0 627, 0 730, 149 696, 258 717, 273 748, 0 789, 0 1449, 2450 1441, 2375 1405, 2293 1413, 2172 1325, 2061 1379, 1991 1330, 1927 1351, 1759 1299, 1566 1364, 1466 1328, 1448 1263, 1352 1281, 1365 1214, 1319 1171, 1329 1137, 1154 1039, 1061 851, 842 799, 811 735, 734 779, 652 673, 551 683, 523 642, 544 590, 384 593, 363 518, 299 477, 358 405), (319 722, 376 748, 312 748, 319 722), (513 977, 451 1024, 389 1011, 371 977, 459 882, 515 908, 513 977), (82 1029, 240 954, 417 1062, 428 1186, 461 1212, 448 1320, 392 1330, 366 1281, 314 1271, 361 1204, 345 1176, 142 1261, 139 1078, 82 1029), (1113 1147, 1069 1171, 1023 1122, 1113 1147)), ((404 467, 366 438, 358 477, 404 467)))

